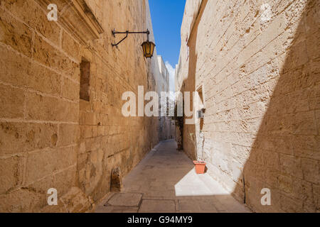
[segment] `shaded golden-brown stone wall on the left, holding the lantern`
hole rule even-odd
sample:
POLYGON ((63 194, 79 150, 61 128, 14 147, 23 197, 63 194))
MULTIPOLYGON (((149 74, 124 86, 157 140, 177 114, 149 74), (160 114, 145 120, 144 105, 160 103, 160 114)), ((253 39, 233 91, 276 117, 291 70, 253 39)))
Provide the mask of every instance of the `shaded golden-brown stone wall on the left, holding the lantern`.
POLYGON ((41 211, 49 188, 59 206, 43 211, 92 209, 110 192, 112 169, 126 175, 158 143, 158 118, 121 113, 123 92, 156 86, 146 35, 111 45, 122 38, 114 28, 146 30, 149 5, 52 0, 55 22, 46 0, 0 3, 0 211, 41 211), (79 95, 82 61, 90 62, 89 101, 79 95))

